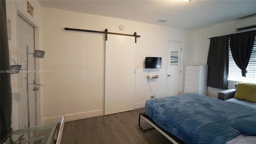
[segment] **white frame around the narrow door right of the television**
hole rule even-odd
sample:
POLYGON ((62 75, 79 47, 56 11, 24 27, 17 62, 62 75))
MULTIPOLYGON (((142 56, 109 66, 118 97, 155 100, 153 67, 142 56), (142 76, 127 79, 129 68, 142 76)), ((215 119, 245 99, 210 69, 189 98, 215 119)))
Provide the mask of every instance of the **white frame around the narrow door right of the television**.
MULTIPOLYGON (((184 93, 182 92, 182 81, 183 81, 183 51, 184 51, 184 41, 183 40, 176 40, 176 39, 167 39, 166 40, 166 59, 168 60, 168 42, 181 42, 181 61, 180 61, 180 94, 184 93)), ((168 86, 168 62, 166 62, 166 95, 167 95, 167 86, 168 86)))

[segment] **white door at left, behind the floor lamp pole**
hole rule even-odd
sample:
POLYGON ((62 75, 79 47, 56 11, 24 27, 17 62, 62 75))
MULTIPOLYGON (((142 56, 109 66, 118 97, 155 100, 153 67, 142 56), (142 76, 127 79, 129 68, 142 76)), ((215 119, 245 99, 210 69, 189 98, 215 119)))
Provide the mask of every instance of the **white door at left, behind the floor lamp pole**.
MULTIPOLYGON (((19 64, 22 68, 27 68, 28 72, 35 70, 35 59, 32 54, 28 55, 27 60, 27 46, 28 52, 34 52, 34 27, 28 24, 20 16, 18 16, 18 57, 19 64)), ((34 92, 35 85, 28 86, 29 99, 27 99, 27 74, 26 70, 22 70, 19 74, 20 83, 20 128, 28 127, 28 101, 29 101, 29 115, 30 115, 30 127, 36 126, 36 96, 34 92)), ((28 74, 28 84, 33 83, 35 80, 35 74, 28 74)))

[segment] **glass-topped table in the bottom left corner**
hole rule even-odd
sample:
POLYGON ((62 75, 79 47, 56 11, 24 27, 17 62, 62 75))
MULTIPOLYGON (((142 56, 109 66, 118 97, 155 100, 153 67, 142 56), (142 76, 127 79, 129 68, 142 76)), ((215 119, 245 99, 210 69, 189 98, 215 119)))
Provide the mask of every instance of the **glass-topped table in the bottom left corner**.
POLYGON ((53 144, 56 131, 57 124, 13 130, 5 144, 53 144))

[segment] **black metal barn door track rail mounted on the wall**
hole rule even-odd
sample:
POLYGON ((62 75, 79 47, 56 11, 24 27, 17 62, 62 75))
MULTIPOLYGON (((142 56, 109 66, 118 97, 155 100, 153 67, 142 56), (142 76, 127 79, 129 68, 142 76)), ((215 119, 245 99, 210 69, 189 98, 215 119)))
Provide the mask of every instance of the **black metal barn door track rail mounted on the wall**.
POLYGON ((108 40, 108 34, 116 34, 116 35, 122 35, 122 36, 134 36, 135 37, 135 43, 137 43, 137 38, 140 38, 140 36, 137 35, 136 32, 134 32, 134 34, 120 34, 120 33, 115 33, 115 32, 108 32, 108 29, 105 29, 104 32, 96 31, 96 30, 82 30, 82 29, 75 29, 75 28, 64 28, 64 30, 72 30, 72 31, 80 31, 80 32, 93 32, 93 33, 105 34, 105 40, 108 40))

